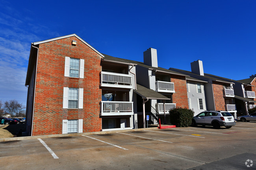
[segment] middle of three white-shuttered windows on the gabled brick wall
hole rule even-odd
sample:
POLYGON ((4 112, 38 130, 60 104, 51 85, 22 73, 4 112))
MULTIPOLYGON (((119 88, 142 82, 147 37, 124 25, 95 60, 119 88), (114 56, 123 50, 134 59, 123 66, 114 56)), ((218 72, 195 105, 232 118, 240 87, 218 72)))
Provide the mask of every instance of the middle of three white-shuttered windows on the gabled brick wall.
POLYGON ((83 89, 64 88, 63 89, 63 108, 82 109, 83 108, 83 89))

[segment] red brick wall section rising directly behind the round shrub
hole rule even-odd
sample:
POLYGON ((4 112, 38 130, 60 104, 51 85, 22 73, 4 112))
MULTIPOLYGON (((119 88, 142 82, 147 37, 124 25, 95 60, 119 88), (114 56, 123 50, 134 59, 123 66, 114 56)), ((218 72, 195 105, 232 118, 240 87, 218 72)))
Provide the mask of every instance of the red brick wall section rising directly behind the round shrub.
POLYGON ((187 84, 184 76, 171 75, 171 82, 174 82, 173 103, 176 107, 188 108, 187 84))

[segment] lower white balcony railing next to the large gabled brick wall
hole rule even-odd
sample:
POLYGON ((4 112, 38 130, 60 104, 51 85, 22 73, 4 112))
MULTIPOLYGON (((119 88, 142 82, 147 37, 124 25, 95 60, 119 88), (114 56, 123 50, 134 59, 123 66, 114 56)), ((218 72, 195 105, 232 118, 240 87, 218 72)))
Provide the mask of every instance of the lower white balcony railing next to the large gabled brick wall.
POLYGON ((115 116, 115 115, 133 115, 133 102, 117 102, 117 101, 101 101, 100 115, 115 116))

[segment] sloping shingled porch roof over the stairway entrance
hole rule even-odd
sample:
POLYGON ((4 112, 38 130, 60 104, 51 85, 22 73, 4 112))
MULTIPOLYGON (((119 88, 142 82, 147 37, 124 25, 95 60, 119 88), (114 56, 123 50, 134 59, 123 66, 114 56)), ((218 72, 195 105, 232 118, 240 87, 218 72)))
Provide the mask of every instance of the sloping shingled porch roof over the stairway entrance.
POLYGON ((134 90, 134 92, 140 95, 143 99, 171 100, 168 97, 139 84, 137 84, 137 90, 134 90))

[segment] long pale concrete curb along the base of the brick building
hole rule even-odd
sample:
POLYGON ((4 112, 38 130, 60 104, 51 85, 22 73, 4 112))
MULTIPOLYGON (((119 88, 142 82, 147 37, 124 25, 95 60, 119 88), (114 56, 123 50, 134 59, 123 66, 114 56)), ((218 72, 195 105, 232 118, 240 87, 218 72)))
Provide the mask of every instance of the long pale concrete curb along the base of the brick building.
POLYGON ((100 131, 100 132, 85 132, 85 133, 66 133, 66 134, 56 134, 56 135, 38 135, 38 136, 24 136, 24 137, 10 137, 10 138, 3 138, 0 139, 0 142, 5 141, 21 141, 21 140, 30 140, 30 139, 38 139, 38 138, 51 138, 51 137, 67 137, 67 136, 81 136, 81 135, 100 135, 100 134, 110 134, 116 132, 135 132, 135 131, 142 131, 145 129, 158 129, 158 127, 154 128, 139 128, 139 129, 128 129, 128 130, 113 130, 113 131, 100 131))

